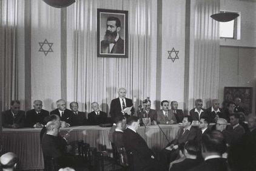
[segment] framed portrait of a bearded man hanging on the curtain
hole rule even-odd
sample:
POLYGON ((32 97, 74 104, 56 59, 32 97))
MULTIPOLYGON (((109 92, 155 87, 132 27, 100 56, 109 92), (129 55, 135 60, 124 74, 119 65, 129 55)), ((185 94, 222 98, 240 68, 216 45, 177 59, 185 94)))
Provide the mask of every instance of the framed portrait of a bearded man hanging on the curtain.
POLYGON ((128 11, 98 8, 98 57, 128 57, 128 45, 128 11))

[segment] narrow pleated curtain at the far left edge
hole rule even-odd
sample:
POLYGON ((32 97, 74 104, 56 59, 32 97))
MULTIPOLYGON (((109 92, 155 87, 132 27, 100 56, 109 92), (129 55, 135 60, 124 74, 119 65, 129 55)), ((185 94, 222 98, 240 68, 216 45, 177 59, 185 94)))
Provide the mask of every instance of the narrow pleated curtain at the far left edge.
POLYGON ((18 98, 16 56, 17 6, 15 0, 0 1, 0 112, 18 98))

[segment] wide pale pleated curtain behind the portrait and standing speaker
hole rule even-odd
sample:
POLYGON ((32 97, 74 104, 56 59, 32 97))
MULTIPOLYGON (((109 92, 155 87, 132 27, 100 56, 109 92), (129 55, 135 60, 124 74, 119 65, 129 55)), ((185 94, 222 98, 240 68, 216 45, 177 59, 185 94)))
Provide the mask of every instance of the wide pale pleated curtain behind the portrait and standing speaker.
MULTIPOLYGON (((152 60, 152 7, 150 0, 76 1, 67 8, 67 101, 77 101, 80 110, 91 111, 90 103, 98 102, 109 111, 110 102, 120 87, 128 98, 142 100, 150 91, 152 60), (97 57, 97 8, 129 11, 129 57, 97 57)), ((155 18, 156 19, 156 18, 155 18)), ((155 57, 155 56, 154 56, 155 57)), ((136 104, 137 105, 137 104, 136 104)))

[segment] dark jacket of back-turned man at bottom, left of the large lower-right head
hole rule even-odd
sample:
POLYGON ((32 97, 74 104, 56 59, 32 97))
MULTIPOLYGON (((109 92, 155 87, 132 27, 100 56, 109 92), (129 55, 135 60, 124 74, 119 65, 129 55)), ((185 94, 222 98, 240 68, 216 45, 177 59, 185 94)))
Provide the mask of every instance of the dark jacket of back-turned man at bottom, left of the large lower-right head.
POLYGON ((170 168, 169 171, 181 171, 181 170, 186 171, 195 166, 198 166, 198 164, 200 164, 200 160, 186 158, 185 160, 181 161, 180 163, 173 164, 172 168, 170 168))

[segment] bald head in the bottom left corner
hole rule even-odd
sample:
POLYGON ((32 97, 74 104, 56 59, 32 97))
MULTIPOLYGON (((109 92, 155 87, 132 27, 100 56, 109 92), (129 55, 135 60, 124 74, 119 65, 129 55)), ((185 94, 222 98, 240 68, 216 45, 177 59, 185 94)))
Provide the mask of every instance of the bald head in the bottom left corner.
POLYGON ((18 156, 13 152, 8 152, 0 157, 0 164, 3 170, 15 169, 18 163, 18 156))

